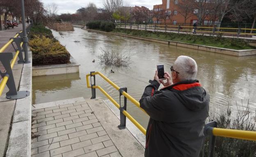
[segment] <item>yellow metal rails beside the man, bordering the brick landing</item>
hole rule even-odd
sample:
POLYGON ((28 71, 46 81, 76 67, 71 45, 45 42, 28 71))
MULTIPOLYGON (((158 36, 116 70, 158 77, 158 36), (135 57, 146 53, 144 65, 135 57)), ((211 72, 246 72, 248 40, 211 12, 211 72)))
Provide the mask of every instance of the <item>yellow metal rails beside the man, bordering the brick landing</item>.
MULTIPOLYGON (((110 85, 112 85, 116 90, 119 90, 120 87, 114 84, 111 80, 109 80, 107 77, 105 77, 101 72, 94 72, 91 74, 86 75, 86 82, 87 82, 87 88, 98 88, 117 108, 120 108, 120 105, 109 95, 107 94, 101 86, 90 86, 89 84, 89 77, 94 75, 100 75, 106 82, 108 82, 110 85)), ((94 82, 95 83, 95 82, 94 82)), ((140 108, 139 102, 135 100, 133 97, 131 97, 128 93, 125 91, 122 91, 122 95, 126 97, 128 100, 130 100, 133 104, 135 104, 138 108, 140 108)), ((144 111, 142 108, 140 108, 142 111, 144 111)), ((122 111, 122 113, 130 119, 130 121, 137 126, 141 132, 146 135, 146 130, 143 128, 127 111, 122 111)), ((146 113, 146 111, 144 111, 146 113)), ((146 113, 147 114, 147 113, 146 113)), ((234 129, 224 129, 224 128, 216 128, 211 127, 212 130, 210 131, 212 135, 214 136, 221 136, 221 137, 231 137, 236 139, 246 139, 246 140, 254 140, 256 141, 256 132, 255 131, 245 131, 245 130, 234 130, 234 129)), ((206 128, 208 129, 208 128, 206 128)))

